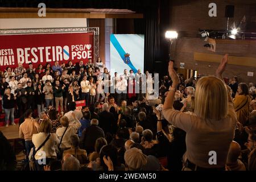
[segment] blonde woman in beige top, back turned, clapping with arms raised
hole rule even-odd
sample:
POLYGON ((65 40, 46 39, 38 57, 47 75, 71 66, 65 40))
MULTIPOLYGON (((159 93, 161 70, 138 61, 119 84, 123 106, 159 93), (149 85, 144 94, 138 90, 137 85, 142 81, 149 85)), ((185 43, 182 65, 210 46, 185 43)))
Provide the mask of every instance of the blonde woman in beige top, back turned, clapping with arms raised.
POLYGON ((163 115, 172 125, 184 130, 187 151, 183 170, 225 170, 229 146, 236 129, 236 113, 222 73, 228 63, 225 55, 215 76, 202 77, 195 92, 195 113, 172 109, 179 77, 170 61, 168 71, 172 86, 163 105, 163 115))

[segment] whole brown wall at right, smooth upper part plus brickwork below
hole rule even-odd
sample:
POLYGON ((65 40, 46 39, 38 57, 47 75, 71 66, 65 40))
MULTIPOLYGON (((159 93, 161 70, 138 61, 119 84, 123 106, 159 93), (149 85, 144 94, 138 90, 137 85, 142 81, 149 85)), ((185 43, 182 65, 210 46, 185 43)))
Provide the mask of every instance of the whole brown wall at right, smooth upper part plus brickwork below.
MULTIPOLYGON (((195 69, 203 75, 214 75, 218 66, 217 63, 205 63, 194 61, 193 53, 213 53, 204 47, 204 40, 196 38, 199 28, 224 30, 226 27, 225 6, 234 5, 234 18, 230 19, 230 26, 233 22, 240 23, 243 15, 246 15, 246 29, 255 29, 255 1, 177 1, 171 5, 170 28, 179 32, 179 39, 174 44, 174 55, 176 67, 179 63, 185 63, 186 69, 195 69), (209 17, 209 3, 216 3, 217 17, 209 17)), ((246 56, 256 58, 256 41, 250 44, 217 44, 216 54, 229 53, 231 56, 246 56)), ((253 81, 256 83, 256 68, 240 65, 228 65, 225 77, 237 75, 241 82, 253 81), (247 77, 247 72, 254 72, 254 77, 247 77)))

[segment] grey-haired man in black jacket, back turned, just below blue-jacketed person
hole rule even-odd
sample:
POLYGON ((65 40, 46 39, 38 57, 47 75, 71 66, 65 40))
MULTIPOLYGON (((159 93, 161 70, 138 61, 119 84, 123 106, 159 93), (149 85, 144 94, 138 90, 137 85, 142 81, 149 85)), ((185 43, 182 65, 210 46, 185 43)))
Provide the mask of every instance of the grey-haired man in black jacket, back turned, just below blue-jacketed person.
POLYGON ((98 138, 105 137, 104 131, 98 127, 98 119, 92 119, 90 126, 82 131, 80 147, 85 149, 87 154, 94 151, 94 146, 98 138))

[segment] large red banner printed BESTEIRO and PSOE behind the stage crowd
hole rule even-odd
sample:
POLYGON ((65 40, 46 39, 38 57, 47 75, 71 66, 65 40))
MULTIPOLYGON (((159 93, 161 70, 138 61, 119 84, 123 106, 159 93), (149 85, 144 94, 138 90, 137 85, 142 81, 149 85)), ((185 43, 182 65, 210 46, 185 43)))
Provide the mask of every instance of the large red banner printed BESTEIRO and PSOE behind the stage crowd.
POLYGON ((0 67, 16 68, 23 63, 27 68, 29 63, 34 68, 39 64, 54 64, 60 61, 78 63, 88 58, 93 60, 93 33, 61 33, 61 34, 28 34, 0 35, 0 67))

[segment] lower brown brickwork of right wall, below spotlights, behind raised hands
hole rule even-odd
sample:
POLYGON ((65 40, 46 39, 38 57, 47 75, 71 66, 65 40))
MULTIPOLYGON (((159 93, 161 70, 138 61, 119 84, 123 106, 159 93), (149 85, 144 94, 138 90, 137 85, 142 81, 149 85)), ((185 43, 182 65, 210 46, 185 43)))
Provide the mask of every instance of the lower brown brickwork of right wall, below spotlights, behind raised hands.
MULTIPOLYGON (((198 73, 202 75, 214 75, 218 67, 218 63, 210 63, 203 61, 195 61, 193 60, 194 52, 202 52, 202 53, 213 53, 207 50, 204 47, 204 40, 200 38, 181 38, 178 39, 175 46, 175 60, 176 67, 179 68, 180 63, 185 63, 185 69, 194 69, 197 70, 198 73)), ((233 46, 233 45, 232 45, 233 46)), ((255 44, 252 46, 248 45, 240 45, 239 47, 232 47, 230 51, 230 44, 220 44, 221 48, 218 48, 218 44, 216 47, 216 54, 224 55, 225 53, 229 53, 230 56, 245 56, 250 55, 251 57, 256 57, 256 51, 251 53, 251 50, 256 50, 255 44), (244 46, 245 48, 241 48, 244 46), (245 51, 246 50, 246 51, 245 51)), ((225 77, 232 77, 234 75, 238 76, 240 82, 254 82, 256 83, 256 68, 255 67, 245 67, 241 65, 228 65, 226 68, 226 72, 224 73, 225 77), (254 77, 248 77, 247 72, 254 72, 254 77)))

